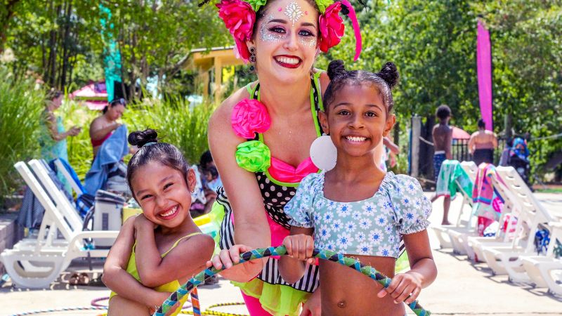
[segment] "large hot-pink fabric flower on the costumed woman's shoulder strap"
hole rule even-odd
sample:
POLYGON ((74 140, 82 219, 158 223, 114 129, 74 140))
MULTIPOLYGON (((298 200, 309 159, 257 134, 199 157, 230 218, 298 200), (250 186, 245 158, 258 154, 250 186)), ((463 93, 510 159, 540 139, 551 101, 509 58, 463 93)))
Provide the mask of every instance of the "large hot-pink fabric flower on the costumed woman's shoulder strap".
POLYGON ((268 109, 258 100, 240 101, 230 118, 236 135, 247 139, 254 138, 254 133, 267 131, 271 125, 268 109))

